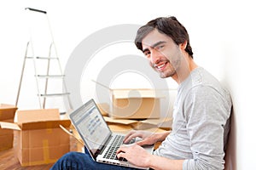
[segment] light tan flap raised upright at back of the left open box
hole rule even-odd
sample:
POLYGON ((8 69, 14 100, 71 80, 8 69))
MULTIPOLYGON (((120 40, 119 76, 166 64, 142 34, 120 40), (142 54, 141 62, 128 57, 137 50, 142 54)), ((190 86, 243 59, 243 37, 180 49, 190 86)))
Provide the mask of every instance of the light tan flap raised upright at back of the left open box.
POLYGON ((58 109, 17 111, 16 114, 18 124, 24 122, 45 122, 60 120, 60 113, 58 109))

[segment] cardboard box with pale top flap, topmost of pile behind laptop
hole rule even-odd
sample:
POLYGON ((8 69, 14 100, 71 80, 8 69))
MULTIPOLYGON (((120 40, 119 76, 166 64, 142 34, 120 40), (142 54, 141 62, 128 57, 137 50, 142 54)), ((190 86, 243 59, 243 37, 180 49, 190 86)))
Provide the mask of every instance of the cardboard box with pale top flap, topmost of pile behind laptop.
POLYGON ((110 116, 119 119, 160 118, 160 98, 154 89, 111 89, 110 116))

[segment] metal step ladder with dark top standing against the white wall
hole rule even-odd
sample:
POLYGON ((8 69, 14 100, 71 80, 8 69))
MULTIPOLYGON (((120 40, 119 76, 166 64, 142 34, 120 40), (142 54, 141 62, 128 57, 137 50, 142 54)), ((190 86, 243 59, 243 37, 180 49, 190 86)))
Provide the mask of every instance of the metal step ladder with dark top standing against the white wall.
MULTIPOLYGON (((72 111, 73 105, 69 97, 70 93, 67 92, 65 75, 63 75, 61 70, 61 62, 56 51, 55 42, 53 39, 52 31, 50 29, 47 12, 44 10, 39 10, 35 8, 25 8, 25 10, 27 14, 26 17, 29 18, 28 25, 29 25, 30 40, 26 43, 26 52, 23 60, 21 76, 20 76, 20 84, 18 88, 15 105, 16 106, 18 105, 19 98, 20 98, 20 89, 21 89, 21 83, 24 76, 24 70, 26 67, 26 60, 32 59, 32 63, 33 63, 32 65, 34 67, 33 68, 34 76, 36 78, 36 86, 38 91, 39 108, 46 109, 46 99, 58 98, 58 99, 61 99, 61 102, 64 105, 66 110, 61 112, 61 114, 67 111, 72 111), (32 17, 34 18, 32 19, 32 17), (39 20, 38 22, 40 22, 41 19, 44 20, 44 22, 46 22, 43 24, 43 26, 39 26, 41 25, 41 23, 39 24, 36 23, 38 20, 39 20), (35 22, 33 22, 33 20, 35 20, 35 22), (45 25, 47 26, 45 27, 45 25), (37 30, 37 31, 39 30, 39 31, 37 32, 34 30, 37 30), (46 30, 46 31, 44 32, 43 30, 44 31, 46 30), (45 35, 40 35, 42 32, 44 32, 45 34, 48 34, 48 38, 46 38, 47 36, 45 35), (36 42, 36 45, 38 47, 36 47, 35 45, 35 38, 33 36, 39 39, 39 41, 36 42), (41 46, 44 46, 44 47, 41 47, 41 46), (44 50, 44 52, 41 52, 42 50, 44 50), (55 92, 53 93, 53 91, 49 92, 49 81, 52 81, 55 79, 59 79, 59 85, 61 85, 61 88, 62 88, 61 92, 57 92, 57 93, 55 92), (67 101, 66 102, 67 104, 65 103, 65 101, 67 101)), ((55 83, 54 85, 56 85, 56 82, 54 83, 55 83)), ((54 88, 60 88, 60 87, 54 87, 54 88)), ((58 108, 58 106, 51 106, 51 108, 53 107, 58 108)))

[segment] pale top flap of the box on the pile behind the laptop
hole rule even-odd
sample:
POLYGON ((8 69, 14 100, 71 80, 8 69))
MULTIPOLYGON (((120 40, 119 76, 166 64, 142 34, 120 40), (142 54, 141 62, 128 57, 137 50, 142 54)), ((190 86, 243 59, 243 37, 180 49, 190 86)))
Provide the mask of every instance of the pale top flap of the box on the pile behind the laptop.
POLYGON ((112 94, 115 99, 165 97, 160 90, 154 89, 112 89, 112 94))

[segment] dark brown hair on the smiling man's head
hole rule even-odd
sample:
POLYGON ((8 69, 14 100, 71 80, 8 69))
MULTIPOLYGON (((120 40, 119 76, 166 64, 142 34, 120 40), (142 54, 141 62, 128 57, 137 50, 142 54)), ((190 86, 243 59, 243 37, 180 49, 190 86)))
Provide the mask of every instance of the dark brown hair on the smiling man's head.
POLYGON ((185 48, 185 51, 193 59, 193 52, 189 43, 188 31, 174 16, 160 17, 154 20, 150 20, 145 26, 140 27, 137 31, 137 37, 135 38, 135 44, 138 49, 143 50, 143 38, 146 37, 148 33, 154 29, 157 29, 160 33, 171 37, 177 45, 187 41, 187 47, 185 48))

